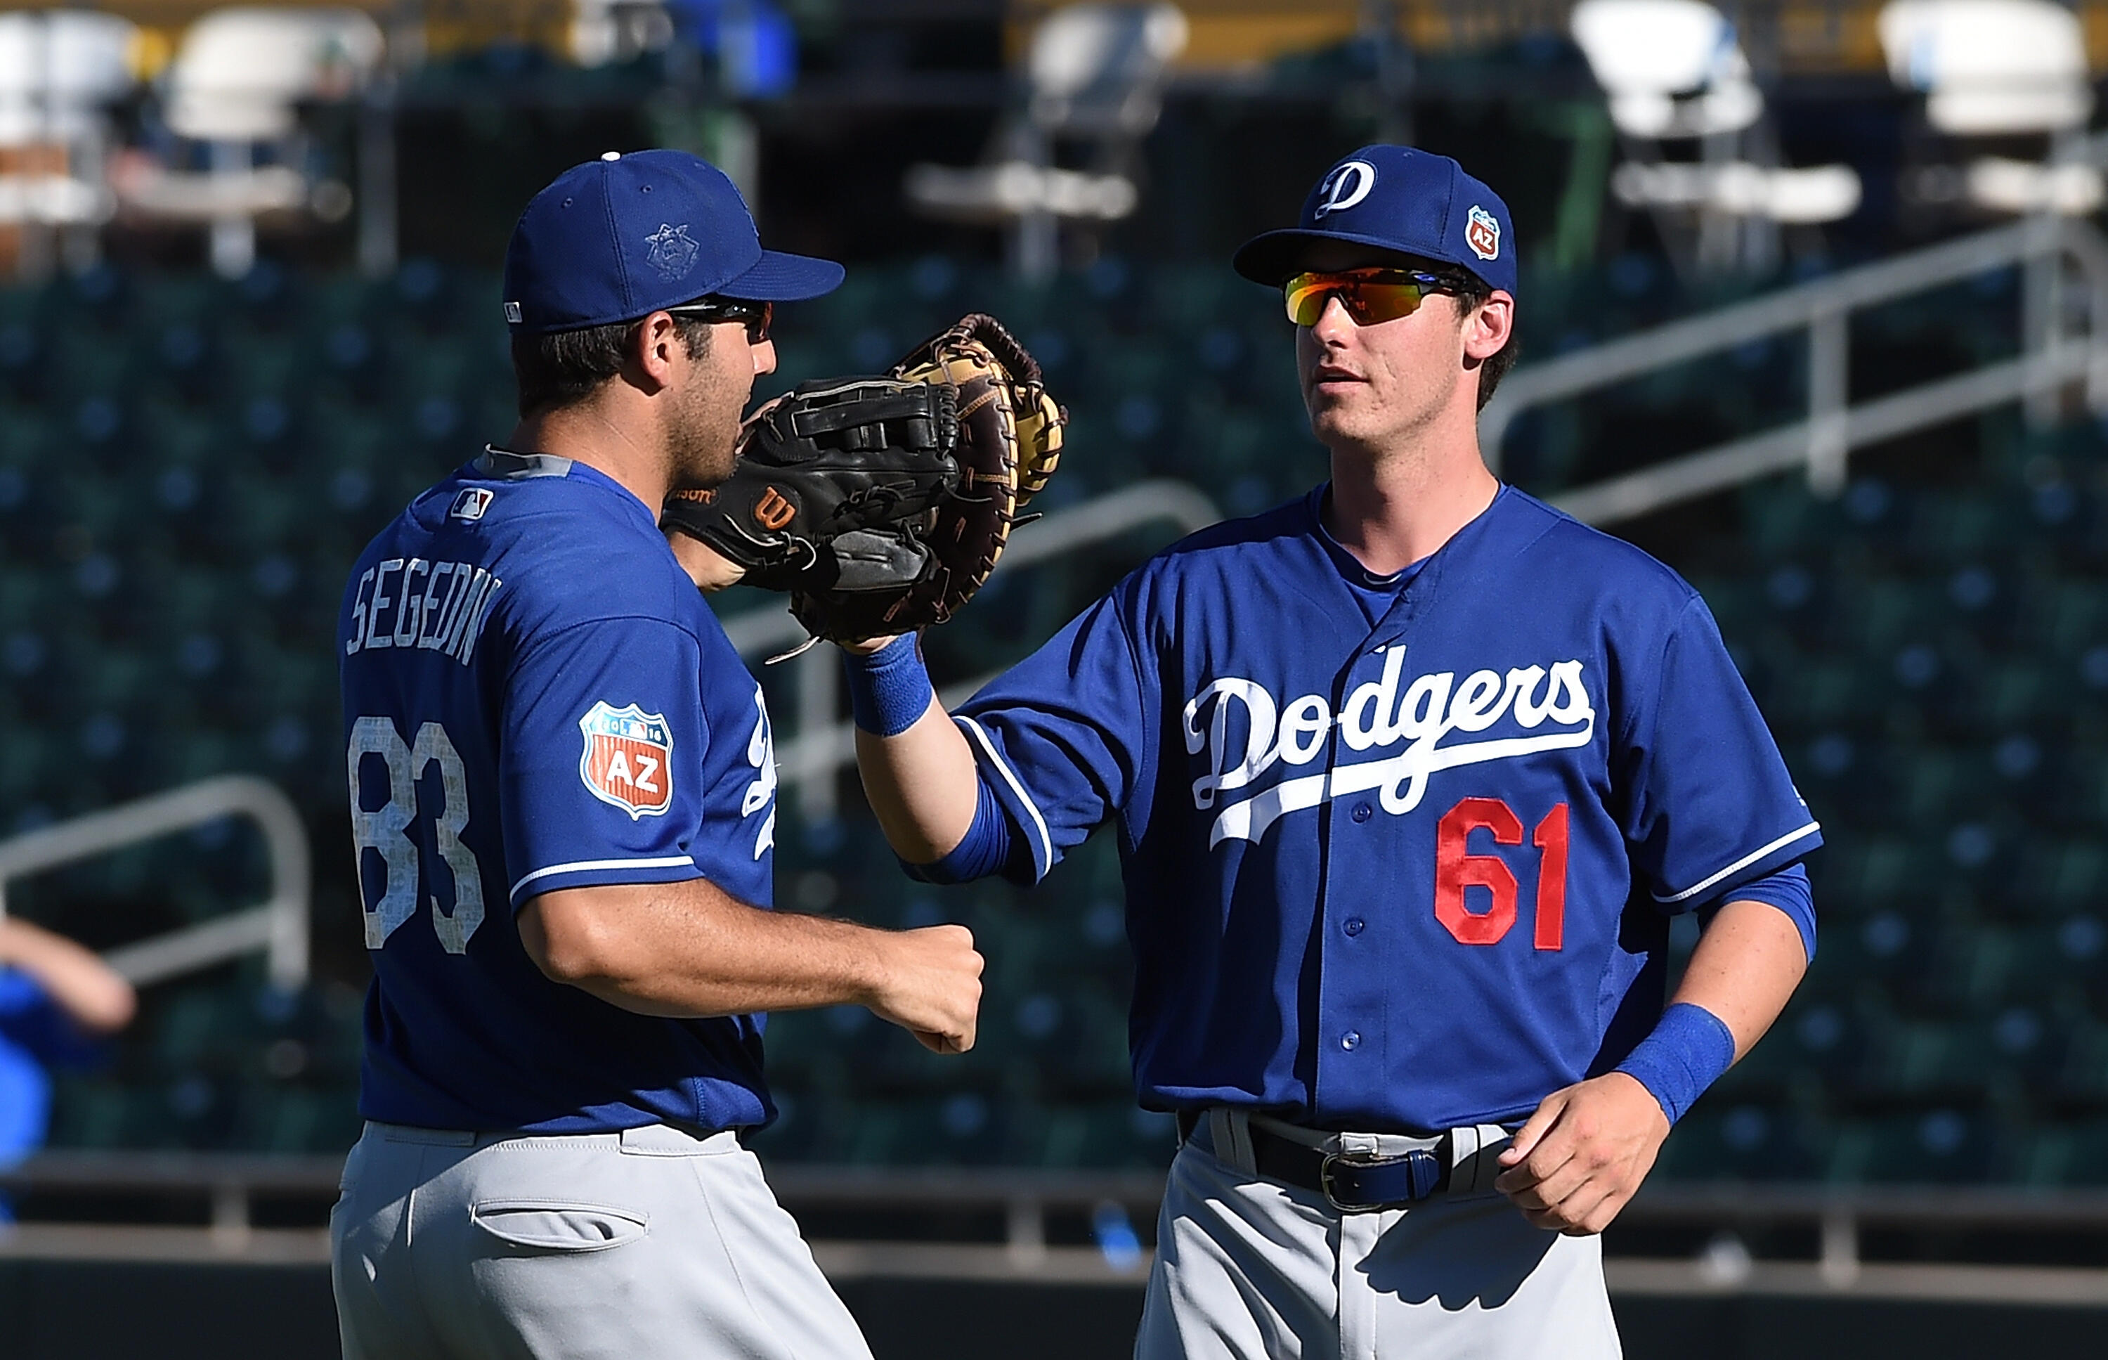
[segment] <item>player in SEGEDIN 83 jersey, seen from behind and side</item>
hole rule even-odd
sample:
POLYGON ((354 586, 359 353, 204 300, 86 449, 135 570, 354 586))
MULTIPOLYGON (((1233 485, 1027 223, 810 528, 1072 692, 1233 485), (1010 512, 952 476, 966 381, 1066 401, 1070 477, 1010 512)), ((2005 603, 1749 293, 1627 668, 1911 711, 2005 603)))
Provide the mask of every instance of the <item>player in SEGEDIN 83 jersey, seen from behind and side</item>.
POLYGON ((862 1004, 959 1052, 980 955, 767 909, 761 687, 658 527, 731 472, 772 304, 839 283, 694 156, 567 171, 506 255, 519 426, 352 569, 350 1360, 868 1356, 738 1141, 774 1113, 759 1012, 862 1004))

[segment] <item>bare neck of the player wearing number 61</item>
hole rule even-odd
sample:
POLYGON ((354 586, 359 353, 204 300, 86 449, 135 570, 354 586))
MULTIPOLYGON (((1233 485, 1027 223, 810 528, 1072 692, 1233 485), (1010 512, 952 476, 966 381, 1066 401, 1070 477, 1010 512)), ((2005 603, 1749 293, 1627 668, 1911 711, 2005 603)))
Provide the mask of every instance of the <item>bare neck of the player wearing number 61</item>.
POLYGON ((1364 567, 1389 576, 1440 550, 1499 489, 1478 453, 1476 422, 1461 432, 1423 430, 1408 447, 1336 447, 1326 529, 1364 567))

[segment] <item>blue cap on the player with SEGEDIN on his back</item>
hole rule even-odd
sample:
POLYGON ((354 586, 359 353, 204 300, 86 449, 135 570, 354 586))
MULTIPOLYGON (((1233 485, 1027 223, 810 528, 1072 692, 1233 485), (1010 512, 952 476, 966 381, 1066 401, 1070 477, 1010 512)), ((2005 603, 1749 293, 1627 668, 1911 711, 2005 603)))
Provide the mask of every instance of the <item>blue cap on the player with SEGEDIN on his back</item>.
POLYGON ((514 333, 637 320, 698 297, 803 302, 841 287, 833 259, 763 251, 721 169, 687 152, 607 152, 533 196, 506 247, 514 333))

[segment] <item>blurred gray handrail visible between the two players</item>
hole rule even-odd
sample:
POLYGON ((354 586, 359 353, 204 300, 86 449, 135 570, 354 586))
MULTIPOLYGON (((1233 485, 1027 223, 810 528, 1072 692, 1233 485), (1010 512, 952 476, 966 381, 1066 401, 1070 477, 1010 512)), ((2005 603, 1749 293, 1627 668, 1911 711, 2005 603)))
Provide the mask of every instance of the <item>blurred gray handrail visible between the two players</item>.
MULTIPOLYGON (((1077 548, 1119 538, 1159 521, 1180 533, 1193 533, 1223 519, 1216 504, 1183 481, 1140 481, 1119 491, 1107 491, 1067 510, 1054 510, 1010 540, 1001 571, 1018 571, 1035 563, 1067 557, 1077 548)), ((753 660, 767 658, 805 641, 805 626, 782 609, 750 609, 725 620, 725 637, 753 660)), ((833 647, 814 647, 797 658, 797 723, 788 738, 776 742, 776 776, 799 791, 799 814, 807 820, 835 814, 835 772, 856 761, 856 734, 837 717, 841 708, 841 662, 833 647)), ((946 685, 942 700, 955 704, 995 679, 946 685)))

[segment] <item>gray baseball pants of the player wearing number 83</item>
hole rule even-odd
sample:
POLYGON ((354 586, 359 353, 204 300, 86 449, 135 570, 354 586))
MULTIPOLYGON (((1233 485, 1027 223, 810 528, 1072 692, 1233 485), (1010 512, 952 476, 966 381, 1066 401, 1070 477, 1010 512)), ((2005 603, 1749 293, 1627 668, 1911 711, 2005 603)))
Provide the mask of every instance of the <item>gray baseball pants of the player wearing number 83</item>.
POLYGON ((367 1124, 329 1240, 344 1360, 871 1360, 731 1132, 367 1124))

